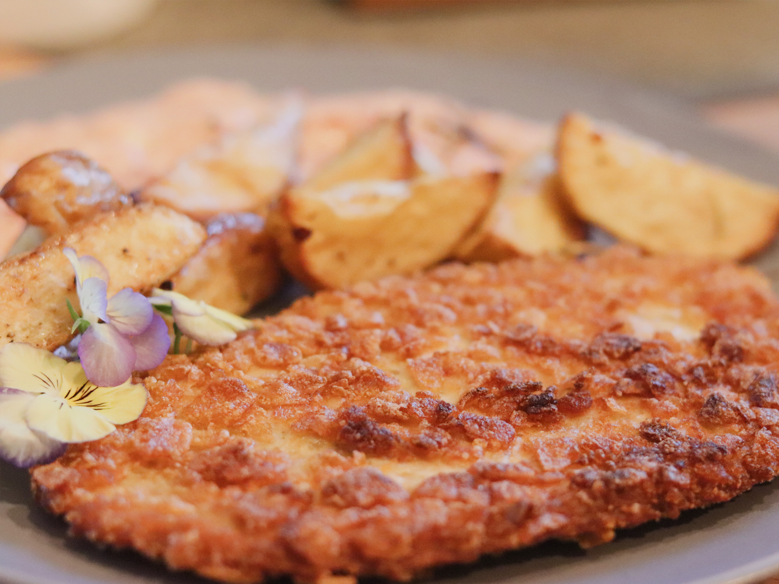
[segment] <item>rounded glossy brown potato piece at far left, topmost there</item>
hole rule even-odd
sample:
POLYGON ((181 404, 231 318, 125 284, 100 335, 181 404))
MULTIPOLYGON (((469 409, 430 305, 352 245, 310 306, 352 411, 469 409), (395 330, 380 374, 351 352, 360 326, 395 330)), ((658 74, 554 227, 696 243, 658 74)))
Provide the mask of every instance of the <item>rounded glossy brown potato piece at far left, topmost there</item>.
POLYGON ((35 157, 0 190, 9 207, 50 235, 65 233, 96 213, 132 205, 111 174, 73 150, 35 157))

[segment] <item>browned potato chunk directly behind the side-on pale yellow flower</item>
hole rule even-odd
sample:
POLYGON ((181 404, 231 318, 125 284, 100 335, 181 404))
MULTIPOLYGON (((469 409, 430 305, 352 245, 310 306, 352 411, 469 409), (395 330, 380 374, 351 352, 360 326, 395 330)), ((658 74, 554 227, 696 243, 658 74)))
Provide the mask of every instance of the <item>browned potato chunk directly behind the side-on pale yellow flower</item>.
POLYGON ((223 214, 203 246, 172 278, 173 290, 242 315, 279 286, 276 242, 253 213, 223 214))

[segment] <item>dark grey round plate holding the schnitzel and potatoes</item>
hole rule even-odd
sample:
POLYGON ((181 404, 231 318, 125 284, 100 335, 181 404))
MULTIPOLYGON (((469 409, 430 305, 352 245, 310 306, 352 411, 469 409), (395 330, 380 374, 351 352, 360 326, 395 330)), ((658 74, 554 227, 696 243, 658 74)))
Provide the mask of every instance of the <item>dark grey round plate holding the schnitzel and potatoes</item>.
MULTIPOLYGON (((146 54, 82 62, 0 84, 0 128, 23 118, 89 111, 146 96, 196 75, 245 79, 259 90, 305 87, 341 92, 404 86, 448 93, 482 107, 553 120, 580 108, 622 123, 672 148, 779 185, 779 160, 707 128, 675 100, 524 62, 387 53, 358 49, 232 48, 146 54)), ((779 288, 779 247, 756 258, 779 288)), ((779 482, 724 505, 687 512, 620 533, 581 551, 548 543, 449 566, 446 584, 747 584, 779 572, 779 482)), ((0 464, 0 581, 8 584, 149 584, 204 582, 171 574, 129 551, 100 551, 66 537, 65 523, 33 502, 24 471, 0 464)))

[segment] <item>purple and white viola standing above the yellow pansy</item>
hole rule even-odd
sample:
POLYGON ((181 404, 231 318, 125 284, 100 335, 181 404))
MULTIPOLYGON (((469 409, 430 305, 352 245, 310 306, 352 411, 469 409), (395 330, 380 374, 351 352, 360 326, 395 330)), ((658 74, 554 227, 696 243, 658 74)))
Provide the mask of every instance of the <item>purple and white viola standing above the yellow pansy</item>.
POLYGON ((81 316, 72 311, 73 327, 82 332, 79 359, 90 382, 114 387, 128 380, 132 371, 162 363, 171 339, 149 299, 132 288, 108 298, 105 266, 90 255, 79 257, 72 248, 63 252, 76 272, 81 316))

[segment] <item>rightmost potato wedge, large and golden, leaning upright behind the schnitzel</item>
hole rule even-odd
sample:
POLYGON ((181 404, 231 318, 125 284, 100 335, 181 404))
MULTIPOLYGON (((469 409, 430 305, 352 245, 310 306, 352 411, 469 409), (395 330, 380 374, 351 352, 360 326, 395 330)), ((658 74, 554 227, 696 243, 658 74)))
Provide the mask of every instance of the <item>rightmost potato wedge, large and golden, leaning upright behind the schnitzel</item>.
POLYGON ((779 224, 779 192, 569 114, 559 173, 576 213, 649 252, 742 259, 779 224))

